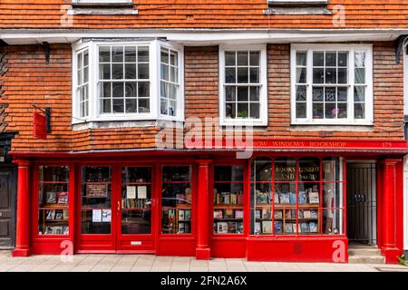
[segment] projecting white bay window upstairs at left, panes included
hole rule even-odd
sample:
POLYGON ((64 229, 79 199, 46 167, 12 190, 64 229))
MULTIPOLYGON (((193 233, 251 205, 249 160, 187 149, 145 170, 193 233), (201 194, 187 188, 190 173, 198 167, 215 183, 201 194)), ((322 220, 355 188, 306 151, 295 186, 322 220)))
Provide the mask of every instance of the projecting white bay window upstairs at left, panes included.
POLYGON ((73 53, 74 123, 183 120, 180 47, 90 41, 73 53))

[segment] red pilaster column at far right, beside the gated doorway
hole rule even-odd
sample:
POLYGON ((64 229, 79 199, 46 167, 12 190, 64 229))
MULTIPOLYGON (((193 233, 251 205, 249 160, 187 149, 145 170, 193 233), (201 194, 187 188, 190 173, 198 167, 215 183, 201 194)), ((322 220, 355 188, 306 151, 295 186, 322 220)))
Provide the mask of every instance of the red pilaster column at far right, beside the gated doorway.
MULTIPOLYGON (((396 165, 401 160, 387 159, 383 162, 384 179, 383 179, 383 192, 381 202, 379 205, 382 209, 382 224, 381 233, 382 236, 382 253, 385 256, 386 262, 391 263, 396 260, 396 256, 399 254, 399 249, 396 247, 396 197, 399 190, 397 184, 397 171, 396 165)), ((402 173, 401 173, 402 174, 402 173)), ((402 185, 400 185, 401 187, 402 185)))

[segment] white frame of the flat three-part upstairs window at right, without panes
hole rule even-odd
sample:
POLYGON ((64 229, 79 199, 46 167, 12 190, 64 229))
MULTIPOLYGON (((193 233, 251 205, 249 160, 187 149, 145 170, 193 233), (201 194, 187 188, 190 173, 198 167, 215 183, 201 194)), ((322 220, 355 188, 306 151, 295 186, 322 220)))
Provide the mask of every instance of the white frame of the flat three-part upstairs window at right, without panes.
MULTIPOLYGON (((291 125, 374 125, 374 69, 373 44, 337 44, 337 43, 292 43, 290 48, 290 116, 291 125), (306 118, 296 118, 296 52, 304 51, 306 58, 306 118), (313 119, 313 52, 335 51, 348 52, 347 83, 348 88, 347 118, 313 119), (355 51, 365 52, 365 119, 354 117, 355 89, 355 51)), ((337 87, 337 84, 333 84, 337 87)))

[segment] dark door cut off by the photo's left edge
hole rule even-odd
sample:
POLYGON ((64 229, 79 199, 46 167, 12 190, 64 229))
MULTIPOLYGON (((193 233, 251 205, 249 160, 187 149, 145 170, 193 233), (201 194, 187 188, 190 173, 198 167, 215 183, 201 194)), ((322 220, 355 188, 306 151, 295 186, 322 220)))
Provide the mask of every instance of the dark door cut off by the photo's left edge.
POLYGON ((15 244, 15 169, 0 168, 0 247, 15 244))

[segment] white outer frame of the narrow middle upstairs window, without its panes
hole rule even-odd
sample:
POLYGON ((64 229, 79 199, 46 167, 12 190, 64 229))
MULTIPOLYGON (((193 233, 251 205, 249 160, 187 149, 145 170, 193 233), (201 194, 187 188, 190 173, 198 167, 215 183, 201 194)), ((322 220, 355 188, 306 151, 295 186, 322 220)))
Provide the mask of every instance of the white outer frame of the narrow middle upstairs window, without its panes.
POLYGON ((267 43, 219 45, 219 124, 267 126, 267 43), (225 53, 231 51, 259 51, 259 119, 228 119, 225 116, 225 53))

